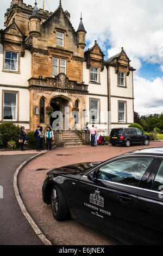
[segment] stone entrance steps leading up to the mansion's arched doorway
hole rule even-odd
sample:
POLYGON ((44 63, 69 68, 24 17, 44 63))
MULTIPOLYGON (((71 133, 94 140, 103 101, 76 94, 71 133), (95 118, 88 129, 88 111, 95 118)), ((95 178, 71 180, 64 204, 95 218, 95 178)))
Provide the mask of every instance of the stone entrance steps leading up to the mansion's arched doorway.
POLYGON ((79 138, 76 133, 71 131, 65 131, 63 133, 64 147, 79 147, 83 145, 82 139, 79 138))

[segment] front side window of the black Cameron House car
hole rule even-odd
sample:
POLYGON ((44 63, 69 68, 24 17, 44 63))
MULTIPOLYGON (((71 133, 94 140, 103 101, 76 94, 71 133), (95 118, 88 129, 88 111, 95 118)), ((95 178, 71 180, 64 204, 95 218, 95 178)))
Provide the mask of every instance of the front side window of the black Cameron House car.
POLYGON ((97 173, 97 179, 137 186, 152 160, 147 157, 116 160, 102 166, 97 173))

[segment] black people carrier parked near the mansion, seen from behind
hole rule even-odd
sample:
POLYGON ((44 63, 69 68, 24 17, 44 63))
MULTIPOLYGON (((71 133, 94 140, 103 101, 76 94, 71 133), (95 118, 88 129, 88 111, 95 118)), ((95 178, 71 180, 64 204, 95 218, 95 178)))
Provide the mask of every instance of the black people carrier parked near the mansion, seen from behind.
POLYGON ((130 147, 131 144, 149 145, 149 136, 137 128, 118 128, 112 129, 109 142, 115 145, 126 145, 130 147))

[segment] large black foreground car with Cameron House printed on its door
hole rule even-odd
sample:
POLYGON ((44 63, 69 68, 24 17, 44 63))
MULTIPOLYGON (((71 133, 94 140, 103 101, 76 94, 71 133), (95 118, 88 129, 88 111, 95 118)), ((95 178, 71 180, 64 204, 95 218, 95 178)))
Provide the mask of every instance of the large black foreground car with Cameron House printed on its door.
POLYGON ((42 196, 58 221, 72 217, 124 243, 163 244, 163 148, 55 168, 42 196))

